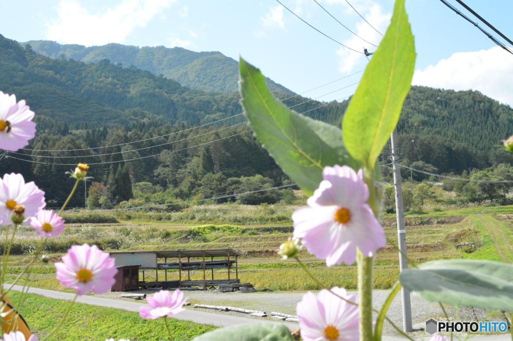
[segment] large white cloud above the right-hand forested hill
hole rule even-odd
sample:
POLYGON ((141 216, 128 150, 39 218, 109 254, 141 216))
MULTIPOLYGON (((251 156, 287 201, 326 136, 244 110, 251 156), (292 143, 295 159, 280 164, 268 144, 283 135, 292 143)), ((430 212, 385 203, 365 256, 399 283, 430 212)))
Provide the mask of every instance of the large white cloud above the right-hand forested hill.
POLYGON ((416 70, 412 84, 433 88, 478 90, 513 106, 513 58, 501 47, 476 52, 458 52, 436 66, 416 70))

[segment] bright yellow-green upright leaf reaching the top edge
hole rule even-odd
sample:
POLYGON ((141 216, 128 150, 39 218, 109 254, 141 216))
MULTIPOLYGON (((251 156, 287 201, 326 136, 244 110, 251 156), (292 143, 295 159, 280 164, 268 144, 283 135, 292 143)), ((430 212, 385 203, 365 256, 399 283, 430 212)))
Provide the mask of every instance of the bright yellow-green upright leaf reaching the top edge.
POLYGON ((410 89, 415 56, 404 0, 398 0, 390 26, 365 69, 342 124, 347 151, 367 169, 372 169, 397 125, 410 89))

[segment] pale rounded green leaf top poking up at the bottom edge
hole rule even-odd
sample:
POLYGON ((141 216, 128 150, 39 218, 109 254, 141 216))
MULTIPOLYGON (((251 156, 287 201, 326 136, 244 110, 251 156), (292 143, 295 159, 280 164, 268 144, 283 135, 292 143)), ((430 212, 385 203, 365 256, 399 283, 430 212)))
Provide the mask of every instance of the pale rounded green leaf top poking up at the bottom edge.
POLYGON ((293 341, 287 326, 278 323, 238 325, 216 329, 192 341, 293 341))

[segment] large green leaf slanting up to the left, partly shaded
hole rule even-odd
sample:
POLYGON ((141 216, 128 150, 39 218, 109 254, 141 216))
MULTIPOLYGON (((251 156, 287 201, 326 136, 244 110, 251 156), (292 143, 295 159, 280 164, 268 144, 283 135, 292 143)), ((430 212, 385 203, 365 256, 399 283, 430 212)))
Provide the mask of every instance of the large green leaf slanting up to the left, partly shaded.
POLYGON ((361 167, 347 153, 339 128, 288 110, 260 70, 242 58, 240 73, 241 103, 254 135, 308 196, 319 187, 324 166, 361 167))

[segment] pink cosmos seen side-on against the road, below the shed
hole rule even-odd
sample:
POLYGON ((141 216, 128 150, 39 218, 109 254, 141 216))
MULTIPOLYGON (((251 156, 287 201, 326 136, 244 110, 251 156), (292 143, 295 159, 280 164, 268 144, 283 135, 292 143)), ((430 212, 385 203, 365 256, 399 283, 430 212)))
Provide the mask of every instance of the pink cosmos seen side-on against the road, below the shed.
POLYGON ((172 295, 168 290, 161 290, 153 297, 148 297, 147 301, 151 309, 145 306, 139 308, 139 316, 142 318, 157 319, 185 310, 182 308, 185 302, 184 293, 180 289, 176 289, 172 295))

